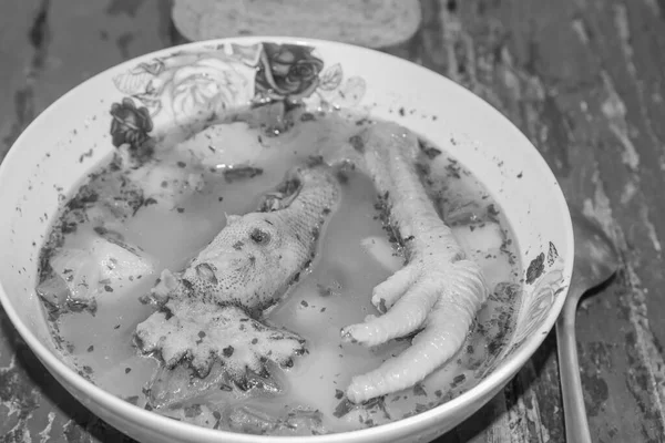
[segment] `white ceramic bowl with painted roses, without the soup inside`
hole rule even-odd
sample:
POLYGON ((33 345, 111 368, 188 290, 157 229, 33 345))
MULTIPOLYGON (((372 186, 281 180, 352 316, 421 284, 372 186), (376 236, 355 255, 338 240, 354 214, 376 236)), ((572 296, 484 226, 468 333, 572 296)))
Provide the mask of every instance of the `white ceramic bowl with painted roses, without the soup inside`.
POLYGON ((526 137, 493 107, 443 76, 398 58, 285 38, 171 48, 112 68, 70 91, 34 120, 0 167, 0 299, 30 348, 100 418, 140 441, 161 443, 433 440, 488 402, 541 344, 559 316, 573 265, 573 231, 556 179, 526 137), (301 44, 313 52, 262 42, 301 44), (257 69, 279 56, 291 60, 287 64, 299 61, 306 66, 289 79, 257 69), (310 106, 319 106, 323 97, 332 105, 397 121, 444 146, 493 193, 519 245, 523 298, 510 344, 474 388, 388 425, 303 439, 258 437, 197 427, 145 411, 101 390, 58 359, 33 288, 40 246, 58 213, 59 195, 72 190, 90 168, 108 158, 112 142, 165 134, 182 115, 245 104, 267 86, 282 96, 304 96, 310 106), (152 127, 136 111, 141 106, 147 107, 152 127), (458 143, 449 143, 450 137, 458 143))

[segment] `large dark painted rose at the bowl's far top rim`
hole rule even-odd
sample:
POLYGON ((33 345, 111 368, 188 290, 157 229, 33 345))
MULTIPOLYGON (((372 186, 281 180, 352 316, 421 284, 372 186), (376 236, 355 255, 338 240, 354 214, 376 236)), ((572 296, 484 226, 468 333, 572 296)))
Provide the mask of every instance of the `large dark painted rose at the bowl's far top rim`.
POLYGON ((264 43, 256 91, 266 99, 298 100, 309 96, 319 84, 324 61, 311 54, 314 48, 264 43))

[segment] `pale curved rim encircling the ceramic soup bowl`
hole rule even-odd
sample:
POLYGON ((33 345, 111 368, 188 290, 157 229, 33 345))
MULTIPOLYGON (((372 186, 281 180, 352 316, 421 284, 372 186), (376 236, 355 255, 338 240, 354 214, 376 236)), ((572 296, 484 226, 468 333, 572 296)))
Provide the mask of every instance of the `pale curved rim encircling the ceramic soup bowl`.
MULTIPOLYGON (((447 76, 439 74, 436 71, 432 71, 428 68, 413 63, 409 60, 388 54, 386 52, 381 52, 379 50, 368 49, 365 47, 358 47, 349 43, 341 43, 329 40, 321 39, 309 39, 309 38, 296 38, 296 37, 286 37, 286 35, 253 35, 253 37, 234 37, 234 38, 224 38, 224 39, 211 39, 211 40, 202 40, 196 42, 191 42, 186 44, 173 45, 168 48, 164 48, 161 50, 152 51, 149 53, 144 53, 142 55, 129 59, 123 61, 122 63, 114 64, 103 71, 92 75, 83 82, 78 83, 75 86, 70 89, 68 92, 62 94, 59 99, 57 99, 53 103, 51 103, 44 111, 42 111, 19 135, 19 137, 12 143, 10 150, 8 151, 4 159, 0 164, 0 181, 7 174, 7 169, 10 168, 12 158, 17 155, 19 151, 19 146, 22 144, 25 134, 28 134, 31 128, 42 124, 43 121, 47 121, 51 114, 58 112, 58 107, 62 102, 64 102, 70 96, 76 94, 76 91, 83 84, 93 81, 94 79, 99 79, 101 76, 110 75, 111 71, 116 71, 121 68, 132 68, 136 65, 140 61, 156 58, 156 56, 165 56, 172 54, 177 51, 187 51, 187 50, 201 50, 204 48, 209 48, 217 44, 224 43, 242 43, 242 44, 252 44, 252 43, 260 43, 260 42, 276 42, 276 43, 287 43, 287 44, 304 44, 310 45, 314 48, 337 48, 342 51, 351 51, 356 52, 358 55, 368 54, 371 56, 380 56, 380 58, 389 58, 395 59, 399 63, 402 63, 408 70, 420 70, 423 71, 423 74, 432 76, 432 80, 436 82, 446 82, 448 83, 448 87, 453 87, 461 90, 460 93, 467 96, 466 100, 475 101, 477 104, 483 105, 488 109, 488 112, 498 114, 500 120, 504 122, 505 125, 511 126, 519 136, 523 138, 523 143, 529 145, 533 153, 533 161, 535 167, 539 168, 541 174, 544 174, 543 182, 548 183, 546 186, 550 186, 555 194, 555 200, 552 202, 553 206, 555 205, 557 209, 557 214, 561 220, 559 224, 563 225, 564 238, 565 238, 565 250, 567 251, 566 256, 563 257, 563 292, 556 297, 553 302, 553 307, 551 312, 544 319, 544 321, 539 324, 538 329, 528 337, 524 342, 520 346, 519 349, 515 350, 511 354, 509 359, 507 359, 502 364, 500 364, 494 371, 492 371, 489 375, 481 379, 478 384, 462 394, 456 396, 452 400, 447 401, 436 408, 432 408, 428 411, 421 412, 419 414, 396 420, 387 424, 362 429, 357 431, 348 431, 348 432, 338 432, 331 434, 316 435, 316 436, 274 436, 274 435, 262 435, 260 439, 265 439, 265 441, 269 442, 291 442, 294 440, 298 442, 313 442, 313 443, 324 443, 324 442, 342 442, 342 441, 374 441, 375 439, 386 437, 386 436, 395 436, 396 431, 399 431, 399 434, 407 435, 411 431, 423 430, 430 427, 440 415, 450 414, 456 409, 461 409, 464 404, 471 404, 480 401, 482 398, 494 395, 499 390, 503 389, 503 387, 520 371, 520 369, 526 363, 526 361, 534 354, 536 349, 544 341, 545 337, 554 327, 554 323, 562 310, 563 302, 565 301, 565 297, 567 295, 567 288, 570 286, 570 279, 573 269, 573 260, 574 260, 574 241, 573 241, 573 226, 572 219, 570 216, 567 203, 565 200, 563 190, 559 184, 559 181, 554 176, 552 169, 542 157, 540 152, 535 148, 533 143, 519 130, 507 116, 504 116, 499 110, 497 110, 492 104, 475 95, 473 92, 468 90, 467 87, 453 82, 447 76), (479 103, 480 102, 480 103, 479 103)), ((104 409, 113 411, 115 415, 123 415, 119 413, 120 411, 125 411, 124 413, 131 413, 135 416, 137 422, 150 423, 150 429, 156 430, 161 429, 162 432, 171 433, 173 436, 187 434, 190 437, 197 437, 202 441, 225 441, 227 439, 232 439, 237 442, 256 442, 257 435, 253 434, 244 434, 236 433, 232 431, 224 430, 212 430, 203 426, 198 426, 191 423, 180 422, 172 419, 168 419, 164 415, 157 414, 152 411, 144 410, 143 408, 139 408, 134 404, 131 404, 121 398, 105 391, 104 389, 95 385, 94 383, 85 380, 83 377, 79 375, 75 371, 70 369, 63 361, 61 361, 53 352, 51 352, 44 344, 40 342, 35 334, 33 334, 28 326, 21 321, 19 315, 14 310, 10 300, 8 299, 7 292, 2 286, 2 281, 0 281, 0 303, 4 308, 10 321, 18 330, 19 334, 23 338, 23 340, 28 343, 30 349, 39 357, 39 360, 47 367, 47 370, 51 371, 52 368, 58 374, 64 378, 69 383, 76 387, 84 395, 92 399, 94 403, 102 405, 104 409), (48 362, 48 364, 45 364, 48 362)), ((75 398, 75 396, 74 396, 75 398)), ((76 401, 81 402, 76 399, 76 401)), ((484 404, 484 403, 483 403, 484 404)), ((86 408, 88 405, 84 404, 86 408)), ((88 408, 89 409, 89 408, 88 408)), ((468 418, 466 416, 464 420, 468 418)), ((119 431, 123 432, 123 430, 119 431)))

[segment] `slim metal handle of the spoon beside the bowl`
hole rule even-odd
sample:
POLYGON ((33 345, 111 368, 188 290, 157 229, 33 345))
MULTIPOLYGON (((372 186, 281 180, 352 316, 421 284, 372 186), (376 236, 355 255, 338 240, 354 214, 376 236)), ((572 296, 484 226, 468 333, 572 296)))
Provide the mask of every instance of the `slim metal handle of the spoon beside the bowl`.
MULTIPOLYGON (((574 290, 574 289, 573 289, 574 290)), ((586 421, 586 409, 580 379, 577 342, 575 340, 575 313, 577 293, 570 293, 563 312, 556 322, 556 350, 559 375, 565 418, 565 440, 567 443, 592 443, 586 421)))

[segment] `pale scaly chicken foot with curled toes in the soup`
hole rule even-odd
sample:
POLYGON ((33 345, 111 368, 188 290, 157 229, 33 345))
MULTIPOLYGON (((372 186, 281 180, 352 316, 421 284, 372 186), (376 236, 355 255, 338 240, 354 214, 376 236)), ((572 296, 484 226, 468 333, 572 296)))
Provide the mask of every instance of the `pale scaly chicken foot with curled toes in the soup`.
POLYGON ((381 195, 407 265, 374 289, 372 303, 382 315, 342 328, 342 340, 371 347, 418 331, 401 354, 352 378, 346 394, 358 403, 411 387, 448 361, 489 291, 480 267, 464 257, 420 182, 416 136, 378 123, 351 144, 381 195))

